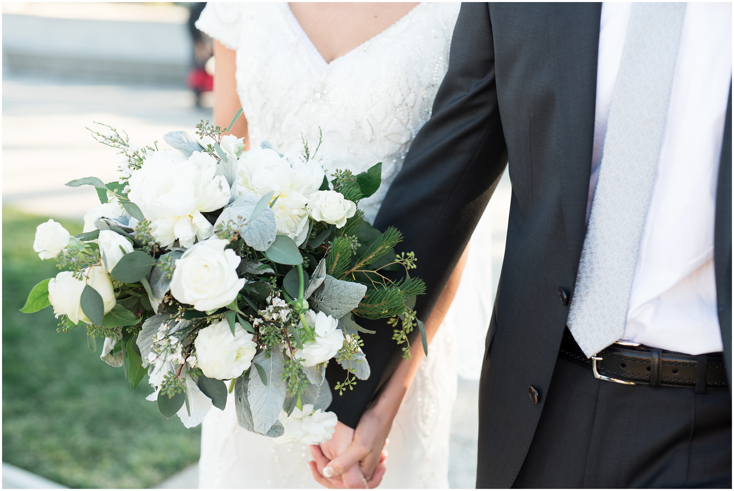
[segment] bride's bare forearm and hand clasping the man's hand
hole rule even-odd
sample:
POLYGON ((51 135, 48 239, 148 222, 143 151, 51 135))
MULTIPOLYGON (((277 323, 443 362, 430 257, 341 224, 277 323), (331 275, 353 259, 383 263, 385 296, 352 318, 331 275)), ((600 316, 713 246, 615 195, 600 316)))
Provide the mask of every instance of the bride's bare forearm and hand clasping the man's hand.
MULTIPOLYGON (((446 317, 448 307, 451 306, 451 302, 454 300, 457 288, 459 287, 459 281, 461 280, 464 265, 466 264, 466 258, 468 255, 469 247, 467 247, 462 254, 457 266, 454 268, 454 273, 451 273, 451 277, 448 278, 446 287, 443 288, 440 297, 437 300, 436 306, 426 320, 426 337, 430 343, 438 331, 443 318, 446 317)), ((382 448, 385 446, 385 439, 388 438, 390 428, 393 425, 393 419, 395 418, 403 398, 407 393, 410 384, 413 383, 413 377, 418 372, 418 367, 423 361, 425 354, 423 351, 423 345, 420 342, 414 342, 411 346, 410 354, 412 358, 409 360, 403 360, 399 364, 396 371, 385 384, 385 388, 377 396, 375 402, 365 411, 362 418, 360 418, 357 428, 354 430, 354 438, 352 443, 346 448, 344 453, 339 451, 333 452, 330 446, 330 441, 327 440, 325 443, 321 443, 321 448, 324 450, 324 455, 328 454, 341 454, 335 459, 325 464, 325 459, 316 458, 320 453, 313 448, 314 458, 316 459, 316 466, 321 471, 323 476, 338 476, 352 468, 355 463, 359 462, 360 470, 367 481, 370 481, 375 468, 380 461, 380 454, 382 448), (323 462, 319 465, 319 461, 323 462)), ((314 478, 321 482, 321 484, 327 485, 329 481, 324 477, 319 476, 316 471, 313 472, 314 478)), ((374 479, 377 481, 377 479, 374 479)), ((331 481, 330 484, 335 484, 331 481)), ((377 486, 379 481, 371 482, 371 487, 377 486)), ((349 486, 346 486, 349 487, 349 486)))

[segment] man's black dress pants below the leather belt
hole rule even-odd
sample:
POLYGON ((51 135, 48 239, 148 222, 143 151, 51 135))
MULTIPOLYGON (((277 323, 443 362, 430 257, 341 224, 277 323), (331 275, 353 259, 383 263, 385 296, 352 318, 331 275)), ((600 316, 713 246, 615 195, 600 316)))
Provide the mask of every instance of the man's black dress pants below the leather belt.
POLYGON ((558 358, 517 488, 732 487, 728 390, 622 385, 558 358))

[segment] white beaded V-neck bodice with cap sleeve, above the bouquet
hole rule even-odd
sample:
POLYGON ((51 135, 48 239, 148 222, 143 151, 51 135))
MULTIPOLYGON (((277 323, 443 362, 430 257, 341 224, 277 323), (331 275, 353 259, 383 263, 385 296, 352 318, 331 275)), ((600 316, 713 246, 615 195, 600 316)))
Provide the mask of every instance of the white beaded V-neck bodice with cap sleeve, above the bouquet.
POLYGON ((300 153, 301 135, 329 173, 382 162, 382 186, 360 202, 373 221, 410 143, 431 116, 448 67, 459 4, 418 4, 327 63, 287 3, 211 4, 200 29, 237 51, 237 91, 250 144, 300 153))

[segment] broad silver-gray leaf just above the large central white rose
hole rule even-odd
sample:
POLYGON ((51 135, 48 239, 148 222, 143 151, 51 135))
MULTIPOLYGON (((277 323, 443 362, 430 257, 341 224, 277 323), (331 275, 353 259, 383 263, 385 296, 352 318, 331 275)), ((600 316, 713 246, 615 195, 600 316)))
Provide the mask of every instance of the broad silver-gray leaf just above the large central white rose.
POLYGON ((247 223, 247 219, 252 215, 258 201, 260 201, 258 196, 249 194, 240 196, 222 210, 214 226, 226 224, 232 220, 235 223, 233 228, 239 232, 247 245, 250 245, 256 251, 266 251, 275 240, 275 232, 277 232, 275 214, 273 210, 266 208, 252 223, 247 223))

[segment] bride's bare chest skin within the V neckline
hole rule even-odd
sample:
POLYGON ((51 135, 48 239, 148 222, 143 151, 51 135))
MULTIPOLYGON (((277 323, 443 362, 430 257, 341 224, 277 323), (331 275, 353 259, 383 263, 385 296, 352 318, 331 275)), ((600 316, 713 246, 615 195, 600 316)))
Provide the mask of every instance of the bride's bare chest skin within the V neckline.
POLYGON ((324 61, 333 62, 389 29, 420 2, 291 2, 294 17, 324 61))

